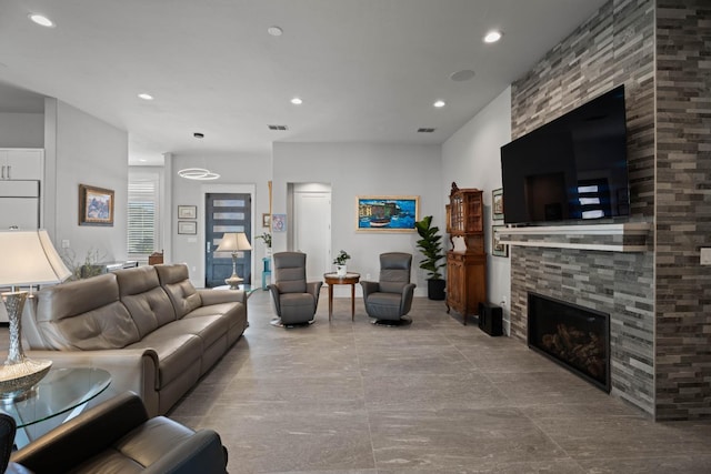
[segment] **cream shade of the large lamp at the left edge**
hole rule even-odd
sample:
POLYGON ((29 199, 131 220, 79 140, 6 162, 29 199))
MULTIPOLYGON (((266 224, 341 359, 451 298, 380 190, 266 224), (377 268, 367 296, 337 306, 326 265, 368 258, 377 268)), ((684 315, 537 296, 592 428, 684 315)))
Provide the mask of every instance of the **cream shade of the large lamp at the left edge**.
POLYGON ((0 286, 59 283, 70 275, 46 230, 0 231, 0 286))

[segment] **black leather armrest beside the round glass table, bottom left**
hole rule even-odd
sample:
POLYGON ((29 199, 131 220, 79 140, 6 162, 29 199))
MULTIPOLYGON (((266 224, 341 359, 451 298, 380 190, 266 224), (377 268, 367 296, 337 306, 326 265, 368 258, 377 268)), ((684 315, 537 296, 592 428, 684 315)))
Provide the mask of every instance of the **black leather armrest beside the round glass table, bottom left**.
POLYGON ((147 420, 141 399, 124 392, 40 436, 11 461, 38 473, 69 472, 147 420))

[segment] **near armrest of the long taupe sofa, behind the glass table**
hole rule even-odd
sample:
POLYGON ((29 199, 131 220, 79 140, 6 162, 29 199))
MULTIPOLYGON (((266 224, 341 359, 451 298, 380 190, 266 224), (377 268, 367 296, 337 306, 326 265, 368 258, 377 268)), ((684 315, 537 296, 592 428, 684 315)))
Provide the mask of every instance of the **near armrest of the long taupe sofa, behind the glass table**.
POLYGON ((27 351, 31 359, 47 359, 54 367, 96 367, 111 374, 113 392, 136 392, 149 415, 159 414, 158 354, 152 349, 110 349, 102 351, 27 351))

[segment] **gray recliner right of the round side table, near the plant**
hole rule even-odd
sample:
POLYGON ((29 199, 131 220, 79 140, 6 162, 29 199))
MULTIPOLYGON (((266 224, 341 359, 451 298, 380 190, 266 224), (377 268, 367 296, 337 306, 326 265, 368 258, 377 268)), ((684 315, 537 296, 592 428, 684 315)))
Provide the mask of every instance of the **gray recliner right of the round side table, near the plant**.
POLYGON ((403 252, 380 254, 378 282, 362 281, 365 312, 375 324, 401 325, 412 322, 405 315, 412 306, 414 283, 410 283, 412 255, 403 252))

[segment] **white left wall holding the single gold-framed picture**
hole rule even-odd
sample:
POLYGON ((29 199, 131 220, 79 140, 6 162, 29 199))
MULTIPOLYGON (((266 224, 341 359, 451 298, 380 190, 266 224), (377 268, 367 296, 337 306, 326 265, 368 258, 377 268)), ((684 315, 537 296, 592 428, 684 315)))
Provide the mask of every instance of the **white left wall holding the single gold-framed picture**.
POLYGON ((57 99, 44 103, 44 226, 60 253, 82 263, 127 258, 128 133, 57 99), (79 225, 79 184, 114 191, 112 226, 79 225), (69 249, 61 249, 62 240, 69 249))

